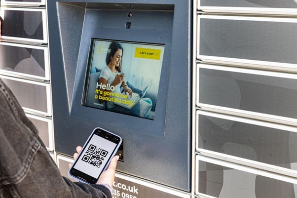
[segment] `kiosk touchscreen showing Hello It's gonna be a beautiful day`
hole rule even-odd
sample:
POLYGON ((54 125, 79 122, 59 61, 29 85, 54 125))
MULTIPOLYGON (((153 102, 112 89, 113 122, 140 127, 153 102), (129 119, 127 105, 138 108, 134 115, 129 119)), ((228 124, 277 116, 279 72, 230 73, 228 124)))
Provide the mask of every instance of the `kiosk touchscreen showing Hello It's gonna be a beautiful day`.
POLYGON ((83 106, 154 119, 163 44, 92 39, 83 106))

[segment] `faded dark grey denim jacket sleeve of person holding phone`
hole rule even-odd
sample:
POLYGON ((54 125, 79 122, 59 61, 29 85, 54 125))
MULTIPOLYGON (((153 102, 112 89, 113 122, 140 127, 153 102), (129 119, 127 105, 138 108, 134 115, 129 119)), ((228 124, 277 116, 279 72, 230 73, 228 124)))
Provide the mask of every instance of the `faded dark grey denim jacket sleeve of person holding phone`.
POLYGON ((1 79, 0 198, 111 198, 104 186, 61 176, 36 127, 1 79))

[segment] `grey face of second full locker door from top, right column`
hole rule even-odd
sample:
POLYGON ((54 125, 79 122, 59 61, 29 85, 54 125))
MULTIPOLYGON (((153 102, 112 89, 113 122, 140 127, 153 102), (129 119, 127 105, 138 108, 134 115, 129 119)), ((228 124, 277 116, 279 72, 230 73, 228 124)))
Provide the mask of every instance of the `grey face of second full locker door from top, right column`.
POLYGON ((297 119, 297 79, 199 70, 199 103, 297 119))

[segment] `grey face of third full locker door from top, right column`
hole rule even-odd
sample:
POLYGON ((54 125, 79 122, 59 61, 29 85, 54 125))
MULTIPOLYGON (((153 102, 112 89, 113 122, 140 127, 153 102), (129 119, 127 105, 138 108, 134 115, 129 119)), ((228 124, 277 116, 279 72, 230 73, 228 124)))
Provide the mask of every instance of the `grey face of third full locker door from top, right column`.
POLYGON ((199 115, 199 149, 297 170, 297 133, 199 115))

